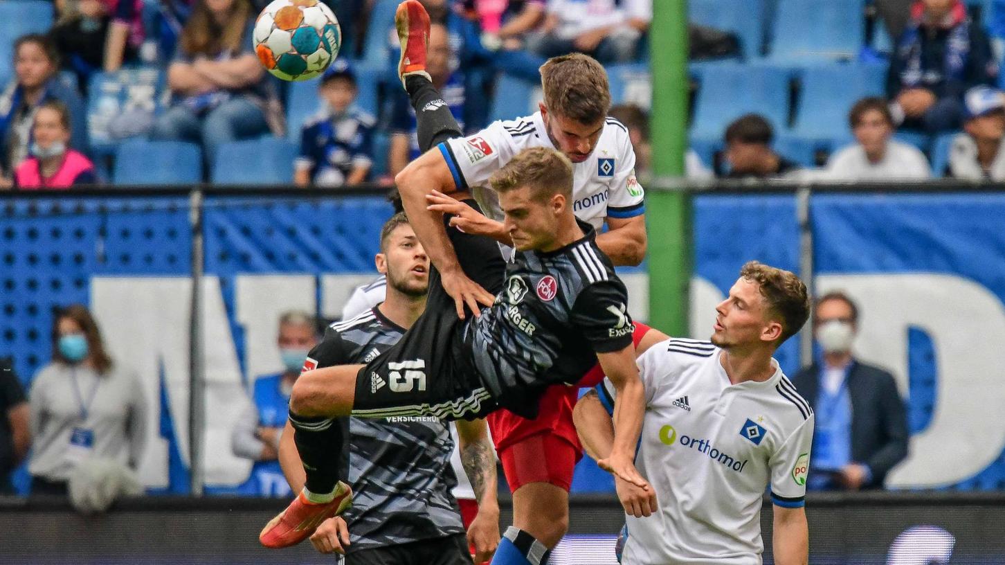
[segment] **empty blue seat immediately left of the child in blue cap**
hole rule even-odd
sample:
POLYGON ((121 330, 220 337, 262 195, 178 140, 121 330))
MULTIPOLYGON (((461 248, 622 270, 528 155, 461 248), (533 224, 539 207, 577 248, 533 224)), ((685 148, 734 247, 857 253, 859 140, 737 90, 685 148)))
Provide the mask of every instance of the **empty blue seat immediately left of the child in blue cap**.
POLYGON ((266 136, 220 146, 210 173, 215 184, 286 184, 293 182, 295 146, 266 136))

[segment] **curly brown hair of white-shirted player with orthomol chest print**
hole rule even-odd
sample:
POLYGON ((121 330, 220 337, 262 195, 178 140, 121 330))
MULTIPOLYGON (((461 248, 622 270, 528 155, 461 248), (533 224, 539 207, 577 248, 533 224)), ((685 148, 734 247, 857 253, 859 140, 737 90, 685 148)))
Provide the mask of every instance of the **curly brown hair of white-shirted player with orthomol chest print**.
POLYGON ((810 317, 810 296, 806 285, 794 272, 748 261, 740 269, 740 277, 756 282, 768 308, 782 319, 782 336, 778 345, 796 335, 810 317))

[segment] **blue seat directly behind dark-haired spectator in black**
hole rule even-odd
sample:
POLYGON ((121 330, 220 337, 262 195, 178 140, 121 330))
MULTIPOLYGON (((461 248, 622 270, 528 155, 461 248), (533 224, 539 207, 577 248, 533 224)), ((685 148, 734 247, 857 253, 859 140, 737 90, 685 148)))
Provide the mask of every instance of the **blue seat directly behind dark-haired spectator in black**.
POLYGON ((731 122, 752 112, 767 118, 776 131, 786 128, 789 69, 767 64, 721 63, 707 66, 700 75, 692 137, 722 138, 731 122))

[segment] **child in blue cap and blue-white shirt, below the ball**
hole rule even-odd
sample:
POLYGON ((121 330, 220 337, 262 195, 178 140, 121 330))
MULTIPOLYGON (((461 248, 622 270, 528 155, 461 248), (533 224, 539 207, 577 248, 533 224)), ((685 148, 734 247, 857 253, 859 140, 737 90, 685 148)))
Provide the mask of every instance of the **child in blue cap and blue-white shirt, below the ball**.
POLYGON ((360 184, 367 180, 373 165, 374 118, 353 106, 358 90, 349 62, 333 62, 318 91, 326 107, 304 126, 293 181, 298 186, 360 184))

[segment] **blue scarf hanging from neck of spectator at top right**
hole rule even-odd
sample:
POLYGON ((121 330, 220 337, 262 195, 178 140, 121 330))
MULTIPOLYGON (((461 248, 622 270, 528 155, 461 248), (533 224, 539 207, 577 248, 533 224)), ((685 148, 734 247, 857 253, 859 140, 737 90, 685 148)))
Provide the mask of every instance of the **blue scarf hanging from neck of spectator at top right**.
MULTIPOLYGON (((922 27, 925 23, 925 5, 917 2, 912 7, 912 18, 903 36, 900 38, 898 50, 901 56, 907 54, 908 63, 900 71, 900 80, 907 87, 918 86, 923 82, 925 69, 922 68, 922 27)), ((966 8, 958 2, 939 27, 949 28, 949 40, 946 42, 945 63, 943 65, 946 80, 963 80, 967 55, 970 54, 970 18, 966 8)))

